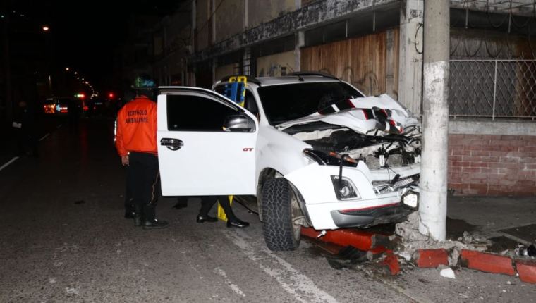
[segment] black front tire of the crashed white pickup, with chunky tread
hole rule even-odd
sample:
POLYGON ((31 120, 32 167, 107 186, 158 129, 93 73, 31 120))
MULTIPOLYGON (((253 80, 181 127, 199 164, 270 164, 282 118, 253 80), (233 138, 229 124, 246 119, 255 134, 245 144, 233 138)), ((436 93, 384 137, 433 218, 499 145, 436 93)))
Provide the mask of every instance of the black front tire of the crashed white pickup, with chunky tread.
POLYGON ((267 180, 262 188, 262 231, 272 251, 290 251, 300 246, 301 226, 293 220, 301 210, 291 184, 285 178, 267 180))

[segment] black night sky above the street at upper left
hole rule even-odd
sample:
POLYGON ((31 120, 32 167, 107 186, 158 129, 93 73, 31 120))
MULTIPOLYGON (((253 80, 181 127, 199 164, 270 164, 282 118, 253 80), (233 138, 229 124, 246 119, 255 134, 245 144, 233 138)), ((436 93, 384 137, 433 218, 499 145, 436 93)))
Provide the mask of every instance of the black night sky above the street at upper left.
POLYGON ((48 25, 57 68, 70 67, 99 85, 114 67, 114 49, 125 42, 131 16, 164 16, 181 1, 8 0, 12 23, 48 25), (16 13, 13 13, 16 11, 16 13), (20 15, 23 15, 21 17, 20 15))

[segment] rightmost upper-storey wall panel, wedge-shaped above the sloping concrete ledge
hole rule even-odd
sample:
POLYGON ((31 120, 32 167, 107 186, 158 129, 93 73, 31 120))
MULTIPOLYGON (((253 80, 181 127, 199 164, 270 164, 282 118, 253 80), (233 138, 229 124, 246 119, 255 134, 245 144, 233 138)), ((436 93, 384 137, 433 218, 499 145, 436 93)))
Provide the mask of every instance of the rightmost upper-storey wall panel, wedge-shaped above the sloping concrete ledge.
POLYGON ((296 0, 245 0, 248 1, 248 28, 272 20, 281 13, 294 11, 296 0))

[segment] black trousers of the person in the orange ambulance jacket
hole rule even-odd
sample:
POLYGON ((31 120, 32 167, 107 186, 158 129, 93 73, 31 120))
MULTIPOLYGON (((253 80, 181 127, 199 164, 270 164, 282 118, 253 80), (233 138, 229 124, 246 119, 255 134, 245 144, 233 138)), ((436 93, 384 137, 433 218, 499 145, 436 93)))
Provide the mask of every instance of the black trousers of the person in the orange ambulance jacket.
POLYGON ((130 152, 128 156, 132 178, 132 194, 136 216, 145 221, 154 221, 159 189, 158 156, 130 152))

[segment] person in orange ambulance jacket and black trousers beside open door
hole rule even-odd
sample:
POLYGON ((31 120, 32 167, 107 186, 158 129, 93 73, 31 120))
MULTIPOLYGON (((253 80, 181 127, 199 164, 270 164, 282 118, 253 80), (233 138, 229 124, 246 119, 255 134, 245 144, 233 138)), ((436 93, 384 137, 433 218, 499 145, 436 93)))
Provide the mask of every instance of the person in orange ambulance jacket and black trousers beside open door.
POLYGON ((159 196, 157 152, 157 104, 149 99, 154 82, 138 77, 136 97, 117 115, 116 149, 123 166, 129 166, 135 205, 134 225, 144 229, 166 228, 169 223, 156 218, 159 196))

